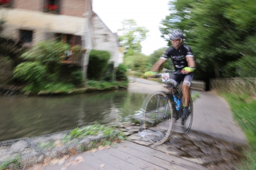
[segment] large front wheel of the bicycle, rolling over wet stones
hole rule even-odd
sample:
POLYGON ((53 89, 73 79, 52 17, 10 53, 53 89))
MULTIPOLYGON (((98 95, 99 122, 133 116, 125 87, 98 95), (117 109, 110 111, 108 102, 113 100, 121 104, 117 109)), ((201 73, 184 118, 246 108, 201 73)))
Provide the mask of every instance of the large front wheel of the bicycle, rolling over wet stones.
POLYGON ((162 91, 148 94, 141 107, 144 114, 142 130, 153 144, 164 143, 172 134, 174 102, 172 105, 172 98, 166 96, 162 91))

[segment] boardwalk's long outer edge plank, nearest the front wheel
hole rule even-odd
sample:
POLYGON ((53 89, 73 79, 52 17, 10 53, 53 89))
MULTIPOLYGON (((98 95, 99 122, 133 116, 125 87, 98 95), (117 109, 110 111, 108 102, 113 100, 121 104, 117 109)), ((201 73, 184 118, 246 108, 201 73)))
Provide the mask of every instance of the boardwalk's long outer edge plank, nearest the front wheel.
MULTIPOLYGON (((139 151, 141 153, 154 156, 158 159, 170 161, 173 164, 183 166, 184 168, 187 168, 187 169, 195 169, 195 170, 196 169, 197 170, 206 169, 205 167, 203 167, 199 164, 196 164, 196 163, 193 163, 193 162, 190 162, 190 161, 187 161, 187 160, 184 160, 184 159, 172 156, 172 155, 167 155, 163 152, 156 151, 156 150, 153 150, 151 148, 147 148, 147 147, 144 147, 142 145, 135 144, 133 142, 125 141, 125 142, 121 142, 120 145, 126 146, 127 152, 132 151, 132 150, 136 150, 136 151, 139 151)), ((123 148, 123 147, 121 147, 121 148, 123 148)))

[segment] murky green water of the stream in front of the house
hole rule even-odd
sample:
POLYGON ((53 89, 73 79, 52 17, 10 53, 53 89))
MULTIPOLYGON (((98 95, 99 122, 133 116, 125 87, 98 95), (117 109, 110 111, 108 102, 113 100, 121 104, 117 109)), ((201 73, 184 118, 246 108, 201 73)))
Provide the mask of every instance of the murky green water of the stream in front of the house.
POLYGON ((121 122, 141 107, 145 96, 127 91, 58 97, 0 96, 0 141, 121 122))

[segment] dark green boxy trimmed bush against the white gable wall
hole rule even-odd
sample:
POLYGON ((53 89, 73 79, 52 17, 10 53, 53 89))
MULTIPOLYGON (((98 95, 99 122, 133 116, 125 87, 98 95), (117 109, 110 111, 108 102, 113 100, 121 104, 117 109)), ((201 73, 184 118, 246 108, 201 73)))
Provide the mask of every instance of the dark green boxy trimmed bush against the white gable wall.
POLYGON ((88 79, 99 80, 106 70, 111 54, 108 51, 92 50, 89 57, 88 79))

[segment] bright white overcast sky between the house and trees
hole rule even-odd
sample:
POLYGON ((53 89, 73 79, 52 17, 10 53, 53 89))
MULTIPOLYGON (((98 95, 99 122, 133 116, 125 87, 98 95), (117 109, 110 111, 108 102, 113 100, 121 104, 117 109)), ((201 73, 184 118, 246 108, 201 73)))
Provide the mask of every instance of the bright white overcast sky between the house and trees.
POLYGON ((134 19, 139 27, 146 27, 150 32, 141 43, 142 53, 152 54, 166 46, 161 38, 160 22, 169 14, 169 0, 93 0, 93 11, 113 32, 122 29, 123 19, 134 19))

